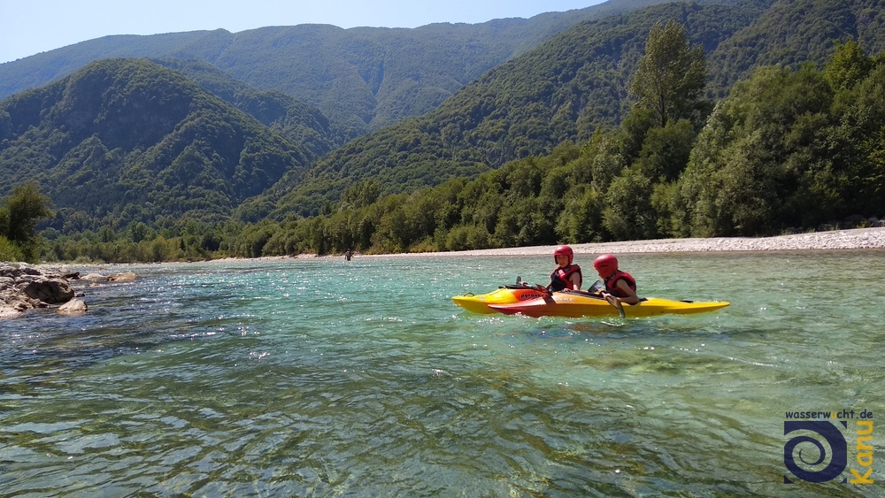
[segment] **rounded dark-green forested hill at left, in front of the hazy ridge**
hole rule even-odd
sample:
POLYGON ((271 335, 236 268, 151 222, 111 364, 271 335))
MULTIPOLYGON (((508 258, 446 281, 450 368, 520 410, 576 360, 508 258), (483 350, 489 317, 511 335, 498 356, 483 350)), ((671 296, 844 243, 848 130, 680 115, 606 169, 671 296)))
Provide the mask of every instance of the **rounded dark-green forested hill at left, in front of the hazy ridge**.
POLYGON ((0 101, 0 196, 36 180, 65 223, 227 216, 312 152, 181 73, 92 63, 0 101))

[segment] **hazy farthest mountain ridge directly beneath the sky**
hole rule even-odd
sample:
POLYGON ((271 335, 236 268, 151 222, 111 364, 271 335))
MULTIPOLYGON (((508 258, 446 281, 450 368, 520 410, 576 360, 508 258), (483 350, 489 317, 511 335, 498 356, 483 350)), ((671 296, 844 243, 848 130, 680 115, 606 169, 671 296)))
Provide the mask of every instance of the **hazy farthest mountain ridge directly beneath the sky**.
MULTIPOLYGON (((587 19, 673 0, 612 0, 586 9, 414 29, 327 25, 114 35, 0 65, 0 99, 109 57, 196 58, 251 87, 317 107, 353 138, 431 111, 492 67, 587 19)), ((730 2, 733 0, 720 0, 730 2)))

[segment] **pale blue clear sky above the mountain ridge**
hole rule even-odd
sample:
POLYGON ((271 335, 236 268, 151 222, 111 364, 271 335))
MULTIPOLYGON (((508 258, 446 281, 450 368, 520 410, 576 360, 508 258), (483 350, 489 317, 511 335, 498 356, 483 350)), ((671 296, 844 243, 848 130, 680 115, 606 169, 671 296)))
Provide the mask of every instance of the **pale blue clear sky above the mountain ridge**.
POLYGON ((0 64, 108 34, 315 23, 337 27, 470 24, 570 11, 604 0, 0 0, 0 64))

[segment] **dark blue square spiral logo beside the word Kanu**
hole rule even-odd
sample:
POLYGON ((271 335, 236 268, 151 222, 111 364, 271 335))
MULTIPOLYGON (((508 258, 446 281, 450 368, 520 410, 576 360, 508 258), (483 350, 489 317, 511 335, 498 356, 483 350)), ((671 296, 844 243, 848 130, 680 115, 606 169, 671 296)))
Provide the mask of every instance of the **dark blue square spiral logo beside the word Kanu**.
MULTIPOLYGON (((845 422, 843 425, 847 427, 845 422)), ((830 422, 787 421, 783 423, 784 435, 795 431, 817 433, 827 444, 825 446, 818 438, 808 435, 795 436, 787 441, 783 446, 783 463, 787 465, 787 469, 794 476, 809 482, 826 482, 839 477, 845 471, 845 467, 848 465, 848 444, 837 426, 830 422), (810 443, 810 445, 803 443, 810 443), (797 447, 799 447, 798 451, 797 447), (810 451, 812 448, 817 448, 816 459, 814 452, 810 451), (829 450, 830 463, 817 471, 808 470, 827 460, 827 449, 829 450), (807 456, 807 460, 803 454, 807 456)), ((789 482, 789 479, 784 477, 784 482, 789 482)))

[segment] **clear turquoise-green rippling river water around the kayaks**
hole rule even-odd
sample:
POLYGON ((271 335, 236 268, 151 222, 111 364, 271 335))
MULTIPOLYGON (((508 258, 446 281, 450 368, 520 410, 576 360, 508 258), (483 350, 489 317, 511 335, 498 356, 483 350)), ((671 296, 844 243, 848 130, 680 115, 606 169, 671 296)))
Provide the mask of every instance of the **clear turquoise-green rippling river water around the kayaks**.
POLYGON ((634 320, 450 301, 550 257, 126 267, 0 322, 0 495, 882 495, 885 428, 875 484, 786 485, 783 423, 885 420, 883 257, 625 255, 640 295, 732 303, 634 320))

